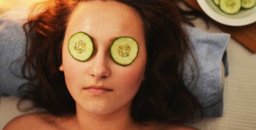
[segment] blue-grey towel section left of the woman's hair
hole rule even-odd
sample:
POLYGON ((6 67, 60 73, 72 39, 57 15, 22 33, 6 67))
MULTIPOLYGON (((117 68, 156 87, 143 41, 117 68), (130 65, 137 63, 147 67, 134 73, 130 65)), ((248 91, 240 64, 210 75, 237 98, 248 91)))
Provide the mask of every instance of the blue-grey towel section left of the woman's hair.
POLYGON ((0 16, 0 96, 19 96, 18 87, 26 82, 12 74, 20 74, 24 59, 10 64, 25 53, 26 37, 22 24, 27 14, 28 10, 20 7, 0 16))

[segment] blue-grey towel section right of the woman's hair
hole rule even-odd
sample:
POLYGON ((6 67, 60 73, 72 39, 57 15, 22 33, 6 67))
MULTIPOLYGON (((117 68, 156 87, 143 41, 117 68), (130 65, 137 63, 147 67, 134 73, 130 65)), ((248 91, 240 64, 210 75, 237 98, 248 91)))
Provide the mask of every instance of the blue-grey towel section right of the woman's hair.
POLYGON ((189 84, 191 81, 191 71, 198 71, 197 81, 188 85, 188 89, 197 97, 203 107, 205 116, 222 116, 222 71, 221 61, 225 65, 225 72, 228 75, 227 53, 225 54, 230 34, 227 33, 207 33, 201 29, 185 27, 191 41, 191 50, 195 55, 198 70, 193 64, 189 55, 184 71, 184 81, 189 84), (223 55, 225 54, 225 57, 223 55), (188 67, 189 65, 192 68, 188 67), (194 86, 194 87, 193 87, 194 86))

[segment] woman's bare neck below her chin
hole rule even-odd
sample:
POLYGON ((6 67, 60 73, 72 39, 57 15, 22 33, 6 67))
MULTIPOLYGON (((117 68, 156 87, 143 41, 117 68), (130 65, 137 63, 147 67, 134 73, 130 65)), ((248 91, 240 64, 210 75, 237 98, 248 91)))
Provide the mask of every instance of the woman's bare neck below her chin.
POLYGON ((136 129, 138 125, 131 118, 130 106, 131 103, 109 114, 97 115, 76 104, 78 129, 136 129))

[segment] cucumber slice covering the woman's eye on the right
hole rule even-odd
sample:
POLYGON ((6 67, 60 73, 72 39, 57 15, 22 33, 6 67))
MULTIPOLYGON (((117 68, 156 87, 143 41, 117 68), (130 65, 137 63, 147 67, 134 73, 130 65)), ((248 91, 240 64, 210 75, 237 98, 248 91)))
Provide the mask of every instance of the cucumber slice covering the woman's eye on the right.
POLYGON ((137 57, 139 45, 131 37, 119 37, 112 42, 109 51, 115 63, 126 66, 132 64, 137 57))

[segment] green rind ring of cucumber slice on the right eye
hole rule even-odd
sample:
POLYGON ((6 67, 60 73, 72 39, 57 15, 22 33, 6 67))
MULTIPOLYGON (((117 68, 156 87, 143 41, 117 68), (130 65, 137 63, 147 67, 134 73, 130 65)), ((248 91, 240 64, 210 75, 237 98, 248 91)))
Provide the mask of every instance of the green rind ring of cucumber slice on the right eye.
POLYGON ((138 42, 137 42, 134 38, 132 38, 132 37, 129 37, 129 36, 118 37, 118 38, 116 38, 116 39, 112 42, 112 44, 111 44, 111 46, 110 46, 110 49, 109 49, 109 53, 110 53, 111 59, 112 59, 116 64, 122 65, 122 66, 127 66, 127 65, 132 64, 132 63, 134 62, 134 60, 138 57, 138 54, 139 54, 139 44, 138 44, 138 42), (123 63, 118 62, 118 61, 113 57, 113 54, 111 53, 111 48, 113 47, 115 41, 118 40, 118 39, 120 39, 120 38, 131 38, 131 39, 133 39, 133 40, 135 41, 135 43, 137 44, 137 47, 138 47, 138 51, 137 51, 136 56, 135 56, 135 57, 133 58, 133 60, 132 60, 130 63, 128 63, 128 64, 123 64, 123 63))

